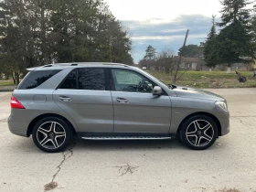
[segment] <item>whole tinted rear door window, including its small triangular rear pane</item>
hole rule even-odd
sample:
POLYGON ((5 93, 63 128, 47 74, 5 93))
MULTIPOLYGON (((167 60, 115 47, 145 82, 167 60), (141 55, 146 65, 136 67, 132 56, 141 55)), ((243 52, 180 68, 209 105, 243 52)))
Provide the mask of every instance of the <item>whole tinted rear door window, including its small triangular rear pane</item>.
POLYGON ((100 68, 75 69, 69 73, 60 89, 105 91, 105 70, 100 68))

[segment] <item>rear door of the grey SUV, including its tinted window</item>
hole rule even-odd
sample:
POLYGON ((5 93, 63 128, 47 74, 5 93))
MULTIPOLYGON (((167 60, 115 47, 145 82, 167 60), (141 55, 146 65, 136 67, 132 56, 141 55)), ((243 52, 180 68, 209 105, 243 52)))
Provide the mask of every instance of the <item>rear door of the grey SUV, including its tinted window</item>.
POLYGON ((106 69, 74 69, 53 93, 54 101, 81 133, 113 132, 112 95, 106 79, 106 69))

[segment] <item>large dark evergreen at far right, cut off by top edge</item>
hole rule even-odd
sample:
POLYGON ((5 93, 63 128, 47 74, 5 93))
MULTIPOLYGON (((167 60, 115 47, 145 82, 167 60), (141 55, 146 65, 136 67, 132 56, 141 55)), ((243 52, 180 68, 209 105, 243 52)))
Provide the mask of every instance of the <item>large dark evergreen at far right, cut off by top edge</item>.
POLYGON ((229 67, 233 63, 250 62, 255 59, 255 47, 252 42, 251 15, 246 5, 248 0, 222 0, 223 5, 220 13, 223 27, 217 36, 217 46, 214 51, 218 54, 219 64, 226 64, 229 67))

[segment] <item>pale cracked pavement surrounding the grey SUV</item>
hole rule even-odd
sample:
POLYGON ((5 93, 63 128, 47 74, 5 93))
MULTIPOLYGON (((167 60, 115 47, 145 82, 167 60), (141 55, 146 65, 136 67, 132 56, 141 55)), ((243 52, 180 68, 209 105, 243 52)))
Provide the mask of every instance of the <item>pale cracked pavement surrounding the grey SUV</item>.
POLYGON ((254 192, 256 89, 211 91, 229 102, 231 132, 206 151, 188 150, 175 140, 74 138, 62 154, 45 154, 31 138, 10 133, 11 93, 0 92, 0 191, 35 192, 57 185, 53 191, 254 192))

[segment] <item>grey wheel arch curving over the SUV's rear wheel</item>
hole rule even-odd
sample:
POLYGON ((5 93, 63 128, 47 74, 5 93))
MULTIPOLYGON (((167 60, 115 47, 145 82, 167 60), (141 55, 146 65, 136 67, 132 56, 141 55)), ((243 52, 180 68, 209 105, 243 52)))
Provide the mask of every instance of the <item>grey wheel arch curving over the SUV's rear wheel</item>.
POLYGON ((45 113, 45 114, 41 114, 41 115, 38 115, 36 118, 34 118, 31 123, 29 123, 28 127, 27 127, 27 137, 29 137, 32 132, 33 132, 33 127, 35 126, 35 124, 40 120, 40 119, 43 119, 43 118, 46 118, 46 117, 58 117, 60 119, 62 119, 63 121, 65 121, 66 123, 69 124, 69 127, 72 129, 72 133, 73 135, 77 135, 77 131, 76 129, 74 128, 73 124, 69 122, 69 120, 59 114, 55 114, 55 113, 45 113))

